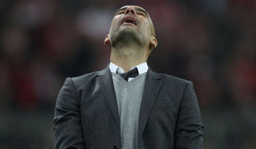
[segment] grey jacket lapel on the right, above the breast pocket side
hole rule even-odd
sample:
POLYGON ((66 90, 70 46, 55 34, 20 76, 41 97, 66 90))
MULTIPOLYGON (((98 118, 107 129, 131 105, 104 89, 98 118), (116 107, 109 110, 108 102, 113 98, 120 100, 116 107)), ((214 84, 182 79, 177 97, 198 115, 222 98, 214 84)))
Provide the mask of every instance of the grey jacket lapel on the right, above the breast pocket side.
POLYGON ((138 129, 138 139, 140 142, 141 135, 146 126, 151 108, 155 102, 157 94, 162 85, 160 76, 151 71, 150 67, 148 68, 145 87, 142 95, 141 105, 140 105, 140 114, 139 114, 139 129, 138 129))

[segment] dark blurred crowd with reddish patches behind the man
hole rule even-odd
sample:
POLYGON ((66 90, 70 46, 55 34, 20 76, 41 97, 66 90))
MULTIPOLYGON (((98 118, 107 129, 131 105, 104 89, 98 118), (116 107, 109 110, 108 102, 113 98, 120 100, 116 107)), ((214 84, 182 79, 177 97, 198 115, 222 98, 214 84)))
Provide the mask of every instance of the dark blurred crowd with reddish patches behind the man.
POLYGON ((0 0, 0 149, 53 148, 65 78, 106 68, 125 5, 153 21, 152 71, 193 82, 204 148, 255 149, 255 0, 0 0))

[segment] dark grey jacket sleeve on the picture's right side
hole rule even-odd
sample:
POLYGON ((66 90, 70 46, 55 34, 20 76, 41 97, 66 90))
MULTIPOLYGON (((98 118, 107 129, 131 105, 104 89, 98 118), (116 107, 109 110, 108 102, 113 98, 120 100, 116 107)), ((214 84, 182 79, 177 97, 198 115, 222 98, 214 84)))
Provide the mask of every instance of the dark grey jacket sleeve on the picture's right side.
POLYGON ((203 127, 193 83, 188 81, 176 122, 176 148, 203 149, 203 127))

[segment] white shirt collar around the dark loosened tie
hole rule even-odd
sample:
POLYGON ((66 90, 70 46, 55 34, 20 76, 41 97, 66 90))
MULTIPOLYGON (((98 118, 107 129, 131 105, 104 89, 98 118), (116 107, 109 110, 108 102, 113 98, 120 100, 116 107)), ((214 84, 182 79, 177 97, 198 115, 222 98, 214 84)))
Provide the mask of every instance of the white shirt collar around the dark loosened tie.
MULTIPOLYGON (((137 66, 134 66, 134 67, 131 68, 131 70, 136 68, 136 67, 138 69, 139 75, 148 71, 147 62, 139 64, 137 66)), ((113 72, 113 73, 116 73, 116 71, 117 71, 118 74, 124 73, 124 70, 121 67, 118 67, 118 66, 116 66, 115 64, 113 64, 111 62, 109 64, 109 68, 110 68, 110 71, 113 72)), ((134 79, 134 77, 129 77, 128 82, 132 79, 134 79)))

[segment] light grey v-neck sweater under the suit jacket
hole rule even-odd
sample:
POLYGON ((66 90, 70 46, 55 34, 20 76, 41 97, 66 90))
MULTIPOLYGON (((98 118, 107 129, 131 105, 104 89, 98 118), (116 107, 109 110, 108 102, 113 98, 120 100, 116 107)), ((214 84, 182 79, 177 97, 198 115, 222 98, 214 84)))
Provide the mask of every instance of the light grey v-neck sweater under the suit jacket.
POLYGON ((121 148, 138 148, 138 123, 140 104, 147 72, 126 82, 112 73, 121 126, 121 148))

